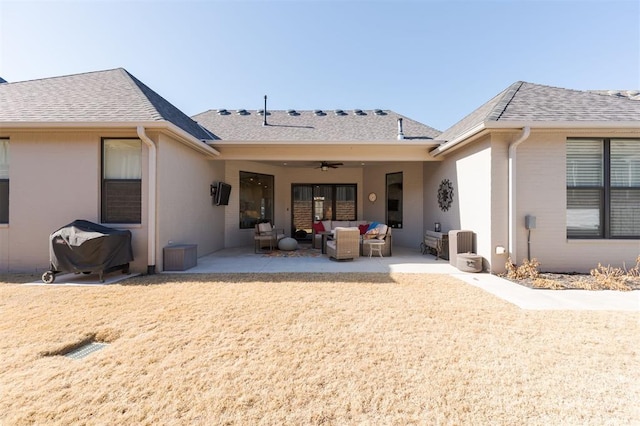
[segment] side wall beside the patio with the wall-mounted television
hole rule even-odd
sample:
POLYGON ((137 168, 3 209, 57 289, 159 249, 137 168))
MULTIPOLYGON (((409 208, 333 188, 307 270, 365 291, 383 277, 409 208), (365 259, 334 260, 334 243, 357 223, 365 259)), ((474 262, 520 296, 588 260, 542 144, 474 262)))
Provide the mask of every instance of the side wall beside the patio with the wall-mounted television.
MULTIPOLYGON (((224 180, 224 162, 202 154, 167 135, 157 140, 157 255, 163 270, 163 248, 173 244, 197 244, 198 256, 224 248, 225 214, 210 196, 210 185, 224 180)), ((236 188, 237 189, 237 188, 236 188)))

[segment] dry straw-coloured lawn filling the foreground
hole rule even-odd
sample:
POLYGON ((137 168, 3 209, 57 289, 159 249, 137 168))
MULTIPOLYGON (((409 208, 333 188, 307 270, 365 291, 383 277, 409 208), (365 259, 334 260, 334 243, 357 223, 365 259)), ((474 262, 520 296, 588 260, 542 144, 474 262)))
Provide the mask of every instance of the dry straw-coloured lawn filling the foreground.
POLYGON ((639 339, 442 275, 2 283, 0 424, 639 424, 639 339))

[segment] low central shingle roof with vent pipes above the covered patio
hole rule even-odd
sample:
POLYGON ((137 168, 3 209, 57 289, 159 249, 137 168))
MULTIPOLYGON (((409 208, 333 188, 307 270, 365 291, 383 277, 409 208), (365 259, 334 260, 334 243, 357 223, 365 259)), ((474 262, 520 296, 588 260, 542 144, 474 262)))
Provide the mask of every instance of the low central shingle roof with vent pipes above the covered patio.
POLYGON ((264 116, 256 110, 235 110, 220 114, 209 110, 192 118, 211 131, 218 139, 230 141, 390 141, 398 138, 398 118, 403 120, 403 134, 407 140, 432 140, 439 130, 411 120, 389 110, 344 110, 342 114, 325 110, 315 111, 269 110, 267 126, 264 116))

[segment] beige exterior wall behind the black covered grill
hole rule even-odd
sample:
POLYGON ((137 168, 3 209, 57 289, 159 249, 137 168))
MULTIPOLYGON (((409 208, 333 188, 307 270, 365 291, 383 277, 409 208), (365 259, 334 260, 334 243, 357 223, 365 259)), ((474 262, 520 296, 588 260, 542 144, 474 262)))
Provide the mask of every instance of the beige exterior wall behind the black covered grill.
MULTIPOLYGON (((41 272, 49 268, 49 235, 75 219, 99 222, 101 137, 136 137, 122 131, 9 132, 9 225, 0 232, 3 270, 41 272)), ((143 149, 143 176, 146 175, 143 149)), ((142 198, 147 185, 143 177, 142 198)), ((130 229, 135 261, 146 270, 146 203, 140 225, 130 229)))

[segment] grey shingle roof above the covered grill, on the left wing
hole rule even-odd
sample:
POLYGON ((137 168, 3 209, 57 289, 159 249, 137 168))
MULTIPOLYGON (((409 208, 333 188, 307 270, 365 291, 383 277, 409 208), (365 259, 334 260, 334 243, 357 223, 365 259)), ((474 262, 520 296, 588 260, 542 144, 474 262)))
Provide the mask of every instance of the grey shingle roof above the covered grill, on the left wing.
POLYGON ((189 116, 125 69, 0 84, 0 124, 168 121, 211 139, 189 116))

